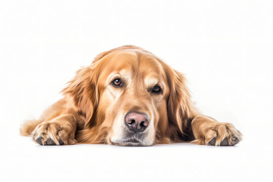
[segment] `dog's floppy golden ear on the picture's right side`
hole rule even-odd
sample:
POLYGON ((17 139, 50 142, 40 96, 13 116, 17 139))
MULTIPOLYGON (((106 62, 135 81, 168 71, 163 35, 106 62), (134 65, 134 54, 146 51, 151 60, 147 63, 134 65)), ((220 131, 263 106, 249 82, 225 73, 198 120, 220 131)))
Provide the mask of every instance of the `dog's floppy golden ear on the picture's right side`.
POLYGON ((188 127, 188 121, 197 115, 191 101, 191 95, 186 85, 183 74, 168 68, 167 77, 169 81, 170 94, 168 98, 168 118, 175 130, 183 132, 188 127))

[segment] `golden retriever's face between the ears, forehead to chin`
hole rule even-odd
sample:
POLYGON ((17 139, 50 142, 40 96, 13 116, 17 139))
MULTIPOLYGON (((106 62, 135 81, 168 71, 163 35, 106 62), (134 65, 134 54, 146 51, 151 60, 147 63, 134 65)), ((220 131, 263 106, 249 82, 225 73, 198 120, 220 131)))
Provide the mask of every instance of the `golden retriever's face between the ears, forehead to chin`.
POLYGON ((167 121, 169 86, 162 65, 143 52, 121 51, 98 63, 98 110, 105 112, 104 125, 111 125, 109 141, 116 145, 150 146, 159 122, 167 121))

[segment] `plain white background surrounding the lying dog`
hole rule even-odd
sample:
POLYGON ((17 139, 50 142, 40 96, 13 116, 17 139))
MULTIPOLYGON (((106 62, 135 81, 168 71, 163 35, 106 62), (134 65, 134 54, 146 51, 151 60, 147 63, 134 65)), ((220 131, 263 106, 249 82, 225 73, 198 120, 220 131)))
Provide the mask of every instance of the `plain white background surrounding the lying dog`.
POLYGON ((0 181, 272 181, 272 1, 1 1, 0 181), (74 72, 124 44, 186 74, 235 147, 38 146, 19 135, 74 72))

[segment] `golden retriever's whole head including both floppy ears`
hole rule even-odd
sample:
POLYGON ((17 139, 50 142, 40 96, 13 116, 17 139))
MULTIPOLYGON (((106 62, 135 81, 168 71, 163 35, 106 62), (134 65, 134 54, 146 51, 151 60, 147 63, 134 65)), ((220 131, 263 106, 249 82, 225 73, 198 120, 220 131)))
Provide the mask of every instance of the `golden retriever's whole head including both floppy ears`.
POLYGON ((84 118, 80 141, 151 146, 176 140, 195 115, 182 74, 134 46, 100 54, 63 92, 84 118))

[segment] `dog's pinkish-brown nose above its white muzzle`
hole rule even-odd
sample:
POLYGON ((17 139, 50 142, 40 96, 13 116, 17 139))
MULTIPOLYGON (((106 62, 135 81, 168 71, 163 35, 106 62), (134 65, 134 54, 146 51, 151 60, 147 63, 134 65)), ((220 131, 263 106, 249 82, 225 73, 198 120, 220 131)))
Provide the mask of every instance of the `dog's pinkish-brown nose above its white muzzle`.
POLYGON ((147 128, 149 119, 144 114, 130 112, 125 116, 125 123, 131 131, 142 132, 147 128))

